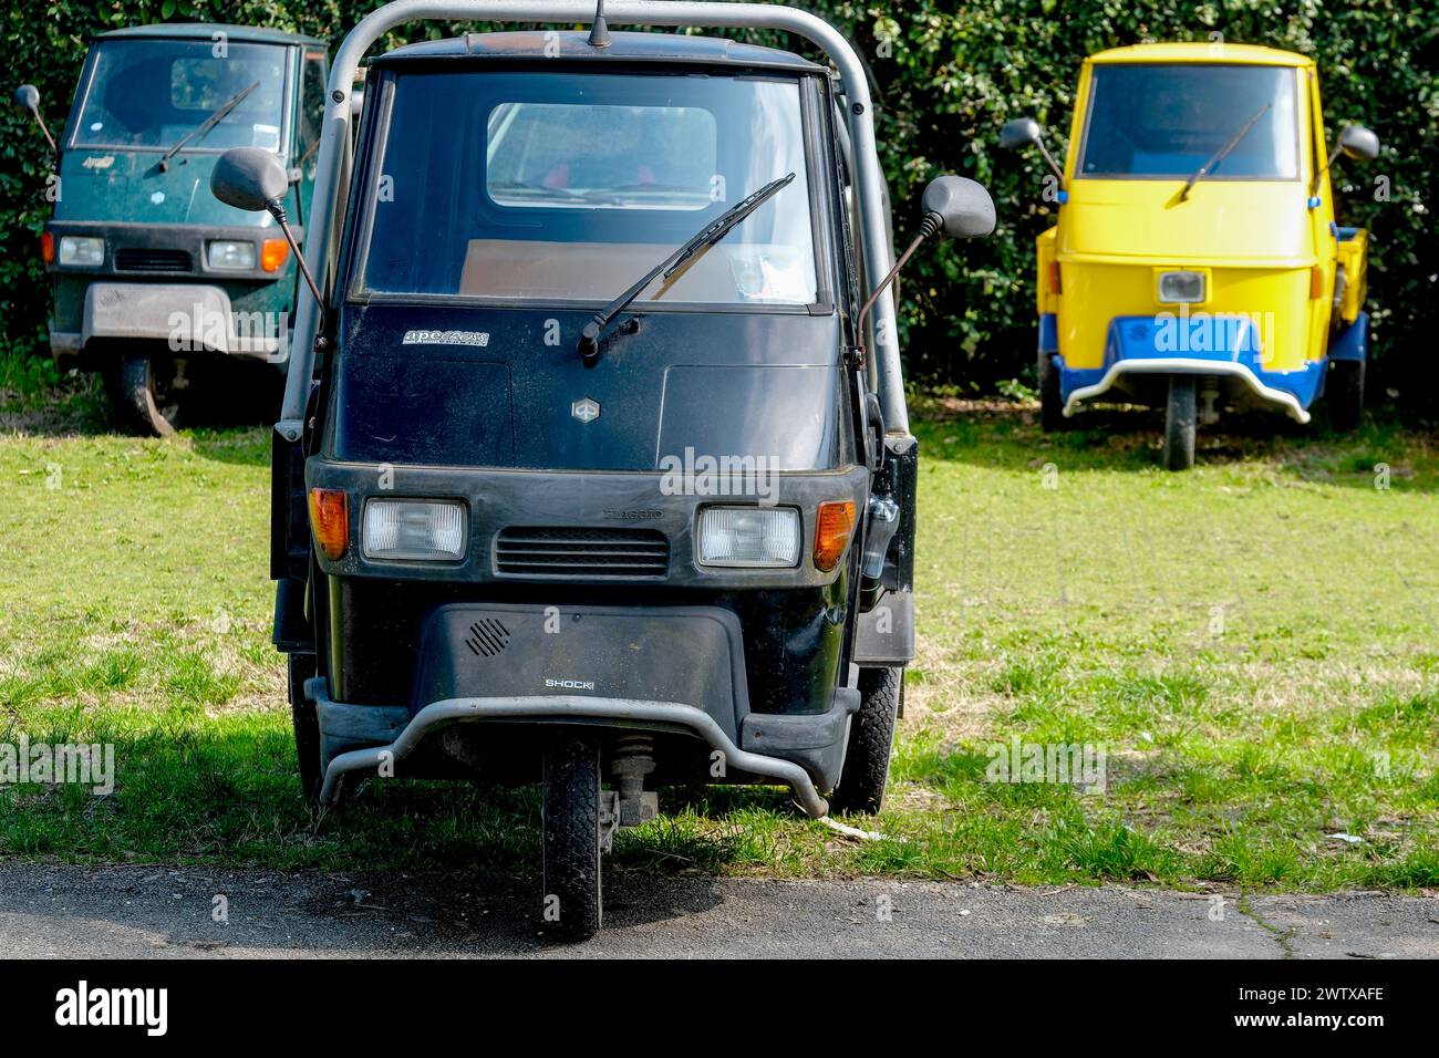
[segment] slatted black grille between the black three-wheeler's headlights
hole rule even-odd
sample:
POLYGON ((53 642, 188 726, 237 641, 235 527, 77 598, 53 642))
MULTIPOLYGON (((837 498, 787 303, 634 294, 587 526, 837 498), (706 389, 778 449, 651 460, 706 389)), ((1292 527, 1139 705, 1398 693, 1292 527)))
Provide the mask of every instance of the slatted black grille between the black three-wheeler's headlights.
POLYGON ((663 577, 669 540, 640 528, 505 528, 495 571, 530 577, 663 577))

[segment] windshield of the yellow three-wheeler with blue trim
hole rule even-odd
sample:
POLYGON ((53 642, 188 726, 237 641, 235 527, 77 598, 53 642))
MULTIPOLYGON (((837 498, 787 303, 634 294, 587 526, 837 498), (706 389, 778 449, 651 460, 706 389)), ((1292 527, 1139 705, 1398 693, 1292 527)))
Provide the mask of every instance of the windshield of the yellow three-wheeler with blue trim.
POLYGON ((1078 176, 1189 180, 1268 105, 1204 180, 1298 180, 1295 71, 1236 63, 1097 65, 1078 176))

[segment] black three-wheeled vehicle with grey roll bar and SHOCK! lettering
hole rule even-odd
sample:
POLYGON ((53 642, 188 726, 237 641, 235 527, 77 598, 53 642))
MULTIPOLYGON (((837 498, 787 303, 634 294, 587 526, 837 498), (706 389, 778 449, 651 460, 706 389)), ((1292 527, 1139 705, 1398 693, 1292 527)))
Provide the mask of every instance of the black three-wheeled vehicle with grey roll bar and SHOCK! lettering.
MULTIPOLYGON (((330 83, 305 248, 327 298, 273 448, 307 787, 541 780, 541 915, 570 939, 658 786, 878 810, 914 654, 918 453, 862 68, 793 9, 609 14, 786 29, 839 78, 603 17, 472 35, 376 59, 351 150, 354 66, 394 24, 590 17, 380 9, 330 83)), ((278 178, 236 151, 213 186, 260 209, 278 178)), ((911 252, 993 223, 943 177, 911 252)))

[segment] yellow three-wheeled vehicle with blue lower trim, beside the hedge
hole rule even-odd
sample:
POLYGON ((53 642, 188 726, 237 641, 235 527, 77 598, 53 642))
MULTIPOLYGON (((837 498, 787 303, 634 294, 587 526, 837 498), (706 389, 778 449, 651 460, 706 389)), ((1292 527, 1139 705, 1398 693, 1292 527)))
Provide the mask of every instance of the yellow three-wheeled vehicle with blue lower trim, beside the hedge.
POLYGON ((1364 402, 1367 232, 1340 227, 1330 164, 1373 158, 1347 125, 1330 154, 1315 65, 1245 45, 1137 45, 1089 56, 1063 168, 1030 118, 1058 223, 1039 236, 1046 429, 1089 402, 1167 406, 1164 461, 1196 422, 1263 406, 1347 429, 1364 402))

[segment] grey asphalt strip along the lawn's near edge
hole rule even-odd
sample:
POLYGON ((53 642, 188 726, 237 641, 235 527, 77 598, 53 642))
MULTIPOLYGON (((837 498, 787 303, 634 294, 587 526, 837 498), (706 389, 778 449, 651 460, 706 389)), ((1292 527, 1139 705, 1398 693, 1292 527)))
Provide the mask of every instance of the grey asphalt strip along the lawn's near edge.
POLYGON ((1439 957, 1439 898, 743 878, 606 880, 606 931, 544 943, 532 884, 0 861, 12 957, 1439 957), (229 921, 214 921, 216 897, 229 921))

